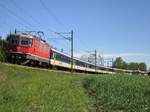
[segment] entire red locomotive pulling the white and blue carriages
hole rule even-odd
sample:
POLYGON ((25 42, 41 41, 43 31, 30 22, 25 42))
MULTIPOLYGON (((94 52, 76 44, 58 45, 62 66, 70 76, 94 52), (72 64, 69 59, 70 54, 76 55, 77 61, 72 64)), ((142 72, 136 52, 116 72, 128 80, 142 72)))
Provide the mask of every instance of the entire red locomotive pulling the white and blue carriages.
POLYGON ((8 60, 12 63, 47 66, 50 46, 35 35, 11 33, 7 37, 8 60))

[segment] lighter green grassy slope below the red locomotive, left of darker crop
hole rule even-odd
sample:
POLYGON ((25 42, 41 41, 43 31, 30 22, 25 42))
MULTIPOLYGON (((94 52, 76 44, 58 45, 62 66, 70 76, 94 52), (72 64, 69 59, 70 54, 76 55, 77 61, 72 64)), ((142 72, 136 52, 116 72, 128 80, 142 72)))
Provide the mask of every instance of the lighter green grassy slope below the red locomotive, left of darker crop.
POLYGON ((86 112, 81 78, 0 64, 0 111, 86 112))

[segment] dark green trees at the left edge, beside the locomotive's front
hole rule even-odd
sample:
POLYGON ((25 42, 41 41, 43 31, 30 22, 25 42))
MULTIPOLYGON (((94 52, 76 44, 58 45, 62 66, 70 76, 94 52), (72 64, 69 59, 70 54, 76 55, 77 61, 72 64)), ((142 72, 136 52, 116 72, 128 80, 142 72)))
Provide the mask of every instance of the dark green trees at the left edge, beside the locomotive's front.
POLYGON ((0 62, 6 61, 7 41, 0 38, 0 62))

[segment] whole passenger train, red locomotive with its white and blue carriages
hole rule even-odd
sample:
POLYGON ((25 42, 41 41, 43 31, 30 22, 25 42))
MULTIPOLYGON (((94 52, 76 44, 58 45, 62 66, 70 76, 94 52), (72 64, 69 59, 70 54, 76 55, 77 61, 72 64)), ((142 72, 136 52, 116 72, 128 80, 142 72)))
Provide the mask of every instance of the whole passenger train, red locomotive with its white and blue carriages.
MULTIPOLYGON (((40 36, 27 33, 10 33, 8 41, 8 61, 11 63, 50 67, 70 70, 71 56, 51 47, 40 36)), ((112 74, 115 72, 141 73, 141 71, 123 70, 105 67, 73 58, 73 70, 88 73, 112 74)))

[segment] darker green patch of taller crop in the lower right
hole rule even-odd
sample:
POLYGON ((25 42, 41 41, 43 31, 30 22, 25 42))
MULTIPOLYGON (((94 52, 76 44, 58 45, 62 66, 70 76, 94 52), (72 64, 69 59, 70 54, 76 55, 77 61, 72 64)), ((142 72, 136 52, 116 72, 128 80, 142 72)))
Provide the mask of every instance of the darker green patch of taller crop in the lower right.
POLYGON ((106 112, 150 112, 150 77, 98 76, 84 81, 94 108, 106 112))

